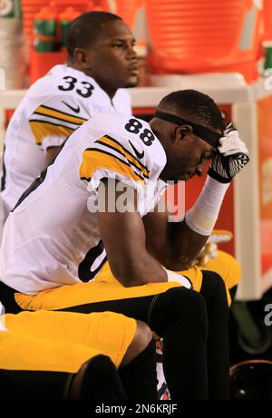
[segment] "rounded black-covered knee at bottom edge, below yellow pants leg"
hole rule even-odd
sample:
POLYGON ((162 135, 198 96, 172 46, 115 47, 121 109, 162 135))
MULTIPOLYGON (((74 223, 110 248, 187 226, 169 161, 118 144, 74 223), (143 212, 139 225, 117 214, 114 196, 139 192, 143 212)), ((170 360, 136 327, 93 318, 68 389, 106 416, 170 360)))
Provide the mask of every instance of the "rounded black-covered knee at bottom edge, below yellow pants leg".
POLYGON ((110 357, 96 355, 73 375, 67 390, 71 400, 127 399, 121 379, 110 357))

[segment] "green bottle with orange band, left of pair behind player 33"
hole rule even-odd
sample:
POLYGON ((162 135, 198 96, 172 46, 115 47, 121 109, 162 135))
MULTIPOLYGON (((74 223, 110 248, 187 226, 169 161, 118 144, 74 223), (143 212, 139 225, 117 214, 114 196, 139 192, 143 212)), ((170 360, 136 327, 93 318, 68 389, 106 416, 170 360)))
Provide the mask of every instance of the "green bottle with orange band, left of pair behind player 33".
POLYGON ((59 45, 56 40, 57 23, 54 19, 34 20, 34 50, 37 52, 56 52, 59 45))

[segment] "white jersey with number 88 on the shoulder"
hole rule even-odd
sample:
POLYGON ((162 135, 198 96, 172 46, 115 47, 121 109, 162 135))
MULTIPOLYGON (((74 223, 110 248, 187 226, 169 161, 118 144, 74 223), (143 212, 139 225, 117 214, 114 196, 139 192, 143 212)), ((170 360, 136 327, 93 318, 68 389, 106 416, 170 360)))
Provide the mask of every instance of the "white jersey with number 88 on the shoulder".
POLYGON ((147 122, 122 113, 94 115, 10 213, 0 256, 3 282, 32 295, 92 280, 106 261, 95 211, 100 180, 137 190, 143 216, 165 188, 159 180, 165 164, 147 122))

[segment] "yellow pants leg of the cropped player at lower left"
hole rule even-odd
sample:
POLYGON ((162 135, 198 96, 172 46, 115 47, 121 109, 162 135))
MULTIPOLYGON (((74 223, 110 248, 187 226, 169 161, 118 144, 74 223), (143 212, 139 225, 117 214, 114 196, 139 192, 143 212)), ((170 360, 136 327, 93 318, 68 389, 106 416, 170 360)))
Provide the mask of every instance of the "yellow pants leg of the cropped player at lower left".
POLYGON ((54 343, 91 347, 109 355, 116 366, 120 365, 137 329, 134 319, 113 312, 22 312, 6 315, 5 325, 12 333, 25 333, 54 343))

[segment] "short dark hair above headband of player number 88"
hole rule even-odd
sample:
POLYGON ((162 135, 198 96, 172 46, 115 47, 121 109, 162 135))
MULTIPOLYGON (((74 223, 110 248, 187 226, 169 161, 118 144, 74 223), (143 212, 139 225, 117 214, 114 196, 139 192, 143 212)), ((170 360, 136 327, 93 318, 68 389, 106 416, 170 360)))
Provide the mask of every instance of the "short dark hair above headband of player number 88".
POLYGON ((158 111, 175 112, 177 115, 208 128, 224 131, 225 123, 219 108, 207 94, 197 90, 170 92, 160 101, 158 111))

